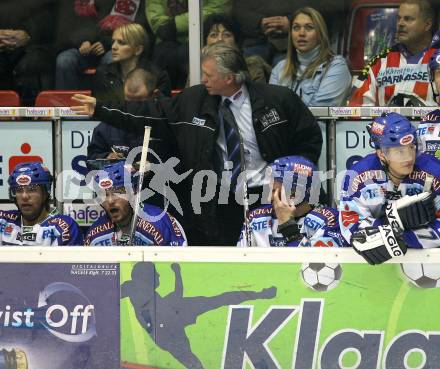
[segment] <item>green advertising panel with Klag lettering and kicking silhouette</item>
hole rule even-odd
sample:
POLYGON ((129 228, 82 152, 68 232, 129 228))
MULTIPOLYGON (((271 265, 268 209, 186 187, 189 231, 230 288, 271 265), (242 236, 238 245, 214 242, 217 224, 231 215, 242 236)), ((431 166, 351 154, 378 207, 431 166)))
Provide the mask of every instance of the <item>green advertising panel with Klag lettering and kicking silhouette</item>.
POLYGON ((122 263, 121 367, 440 368, 440 265, 122 263))

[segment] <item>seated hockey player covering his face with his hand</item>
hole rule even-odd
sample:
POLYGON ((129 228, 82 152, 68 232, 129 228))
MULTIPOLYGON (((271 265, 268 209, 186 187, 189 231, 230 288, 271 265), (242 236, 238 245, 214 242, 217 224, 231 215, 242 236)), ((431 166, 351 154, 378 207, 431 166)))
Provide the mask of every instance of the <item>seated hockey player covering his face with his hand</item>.
POLYGON ((339 231, 338 212, 315 207, 320 195, 316 165, 301 156, 270 164, 271 204, 248 213, 238 246, 348 246, 339 231), (289 196, 286 196, 289 194, 289 196), (248 229, 247 229, 248 228, 248 229))

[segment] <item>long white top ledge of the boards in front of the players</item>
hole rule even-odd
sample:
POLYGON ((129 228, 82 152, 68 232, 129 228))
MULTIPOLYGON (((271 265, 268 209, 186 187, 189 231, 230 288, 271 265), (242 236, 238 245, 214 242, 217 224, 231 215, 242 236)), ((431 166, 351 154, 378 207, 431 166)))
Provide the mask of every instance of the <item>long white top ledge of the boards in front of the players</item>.
MULTIPOLYGON (((201 262, 201 263, 366 263, 350 247, 169 247, 169 246, 63 246, 0 247, 0 263, 117 263, 117 262, 201 262)), ((405 256, 388 263, 439 264, 440 249, 409 249, 405 256)))

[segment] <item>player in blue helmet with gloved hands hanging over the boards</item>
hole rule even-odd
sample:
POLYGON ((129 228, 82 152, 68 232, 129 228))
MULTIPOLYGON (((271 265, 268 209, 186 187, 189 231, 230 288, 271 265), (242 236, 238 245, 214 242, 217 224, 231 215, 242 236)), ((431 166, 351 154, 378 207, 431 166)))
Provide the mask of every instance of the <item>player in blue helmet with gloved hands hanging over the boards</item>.
POLYGON ((342 234, 370 264, 439 247, 440 162, 418 152, 416 129, 400 114, 378 117, 367 130, 376 152, 344 178, 342 234))

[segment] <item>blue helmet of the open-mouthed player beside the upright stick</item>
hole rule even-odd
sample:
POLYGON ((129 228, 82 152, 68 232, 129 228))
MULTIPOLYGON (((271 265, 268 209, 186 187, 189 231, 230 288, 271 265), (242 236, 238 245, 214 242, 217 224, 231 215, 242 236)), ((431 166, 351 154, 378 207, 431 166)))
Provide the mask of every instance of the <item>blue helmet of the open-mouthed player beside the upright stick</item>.
POLYGON ((123 188, 126 183, 135 189, 138 182, 138 176, 135 174, 136 172, 131 166, 127 166, 123 161, 120 161, 105 165, 95 176, 95 182, 102 190, 123 188))

